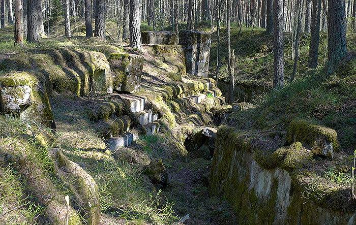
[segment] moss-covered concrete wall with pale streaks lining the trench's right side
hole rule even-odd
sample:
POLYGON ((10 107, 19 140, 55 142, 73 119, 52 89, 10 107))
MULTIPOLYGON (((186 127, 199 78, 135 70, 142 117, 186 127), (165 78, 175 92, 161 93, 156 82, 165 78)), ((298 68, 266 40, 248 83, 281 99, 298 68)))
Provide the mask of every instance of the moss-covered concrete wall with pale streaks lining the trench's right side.
MULTIPOLYGON (((235 224, 354 224, 356 213, 323 208, 302 196, 292 169, 266 166, 256 157, 262 145, 233 127, 219 127, 210 175, 210 192, 222 195, 238 216, 235 224), (255 160, 257 159, 257 161, 255 160)), ((301 148, 298 142, 291 149, 301 148)), ((265 160, 272 157, 263 155, 265 160)), ((305 151, 305 150, 303 150, 305 151)), ((287 158, 287 157, 286 157, 287 158)), ((288 158, 289 160, 290 158, 288 158)))

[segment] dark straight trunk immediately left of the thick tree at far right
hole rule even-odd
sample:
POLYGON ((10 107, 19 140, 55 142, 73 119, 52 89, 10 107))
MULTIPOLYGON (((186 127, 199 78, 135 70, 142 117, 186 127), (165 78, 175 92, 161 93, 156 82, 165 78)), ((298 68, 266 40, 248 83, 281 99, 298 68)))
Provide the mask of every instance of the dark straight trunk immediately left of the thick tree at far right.
POLYGON ((316 68, 318 65, 318 51, 319 51, 319 34, 320 34, 320 7, 321 0, 313 0, 311 30, 310 30, 310 47, 308 67, 316 68))

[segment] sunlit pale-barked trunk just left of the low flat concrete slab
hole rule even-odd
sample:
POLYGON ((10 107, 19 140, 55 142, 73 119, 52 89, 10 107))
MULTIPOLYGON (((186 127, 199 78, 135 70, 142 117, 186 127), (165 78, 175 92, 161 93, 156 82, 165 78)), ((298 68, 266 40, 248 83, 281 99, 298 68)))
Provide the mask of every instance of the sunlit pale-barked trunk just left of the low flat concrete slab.
POLYGON ((142 49, 140 5, 140 0, 130 1, 130 47, 139 50, 142 49))

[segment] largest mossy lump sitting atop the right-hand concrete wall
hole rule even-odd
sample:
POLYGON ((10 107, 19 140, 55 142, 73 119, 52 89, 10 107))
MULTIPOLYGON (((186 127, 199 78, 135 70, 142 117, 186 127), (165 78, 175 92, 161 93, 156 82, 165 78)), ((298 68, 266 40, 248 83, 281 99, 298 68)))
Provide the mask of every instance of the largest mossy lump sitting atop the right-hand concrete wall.
POLYGON ((290 144, 295 141, 310 146, 315 154, 333 157, 334 152, 340 151, 335 130, 306 120, 293 119, 290 122, 286 142, 290 144))

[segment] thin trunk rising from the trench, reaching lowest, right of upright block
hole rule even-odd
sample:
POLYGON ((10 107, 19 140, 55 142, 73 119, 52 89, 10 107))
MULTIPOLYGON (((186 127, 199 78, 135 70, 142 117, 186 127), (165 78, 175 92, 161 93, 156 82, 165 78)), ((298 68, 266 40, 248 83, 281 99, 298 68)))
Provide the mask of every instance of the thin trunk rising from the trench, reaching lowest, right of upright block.
POLYGON ((231 39, 230 39, 231 4, 230 4, 229 0, 227 1, 226 10, 227 10, 227 17, 226 17, 227 67, 228 67, 229 77, 230 77, 229 97, 230 97, 230 104, 232 104, 235 101, 235 98, 233 95, 235 78, 234 78, 234 72, 233 72, 233 57, 231 57, 231 39))

